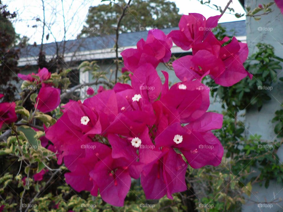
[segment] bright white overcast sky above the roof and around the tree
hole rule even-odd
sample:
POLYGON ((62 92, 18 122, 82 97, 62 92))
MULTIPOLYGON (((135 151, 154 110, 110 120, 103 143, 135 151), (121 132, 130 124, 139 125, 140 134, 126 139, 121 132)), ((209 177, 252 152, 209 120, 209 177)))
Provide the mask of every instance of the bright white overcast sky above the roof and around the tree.
MULTIPOLYGON (((206 18, 210 16, 219 15, 220 12, 209 8, 208 6, 201 5, 197 0, 170 0, 175 2, 180 9, 180 14, 188 13, 200 13, 206 18)), ((17 11, 19 14, 17 19, 13 21, 16 33, 21 36, 27 36, 30 38, 29 43, 37 44, 41 43, 42 39, 42 24, 35 21, 37 17, 43 20, 42 1, 41 0, 2 0, 3 4, 8 5, 8 9, 17 11), (33 28, 32 26, 38 25, 33 28)), ((65 14, 67 35, 66 39, 76 39, 77 35, 82 30, 85 23, 89 6, 96 6, 101 3, 101 0, 45 0, 45 22, 48 23, 47 27, 51 27, 51 32, 48 41, 44 38, 44 43, 62 41, 64 36, 63 25, 63 12, 65 14), (57 14, 55 16, 55 14, 57 14), (54 38, 54 37, 55 38, 54 38)), ((216 4, 224 8, 228 0, 211 0, 211 5, 216 4)), ((244 13, 244 10, 237 0, 234 0, 230 5, 235 12, 244 13)), ((244 20, 245 17, 237 19, 234 15, 224 14, 219 22, 230 22, 244 20)), ((45 35, 48 33, 48 29, 45 29, 45 35)))

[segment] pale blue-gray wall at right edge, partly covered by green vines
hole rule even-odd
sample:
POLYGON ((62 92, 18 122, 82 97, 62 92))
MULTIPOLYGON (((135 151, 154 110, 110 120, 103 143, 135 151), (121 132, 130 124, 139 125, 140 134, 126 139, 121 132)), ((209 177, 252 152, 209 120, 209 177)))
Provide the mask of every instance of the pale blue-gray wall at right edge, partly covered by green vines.
MULTIPOLYGON (((271 0, 246 0, 245 4, 255 8, 259 4, 268 4, 271 0)), ((249 46, 249 55, 256 52, 255 45, 259 42, 271 44, 275 47, 275 54, 279 57, 283 57, 283 15, 280 14, 279 9, 276 5, 273 5, 272 13, 264 15, 261 20, 256 21, 253 17, 246 18, 246 32, 247 32, 247 43, 249 46)), ((283 64, 281 64, 283 65, 283 64)), ((278 78, 283 76, 282 70, 278 73, 278 78)), ((283 102, 283 91, 282 82, 277 80, 273 84, 273 90, 269 91, 270 101, 266 102, 261 111, 258 112, 256 108, 246 112, 246 135, 258 134, 262 135, 262 139, 273 141, 276 138, 274 133, 274 123, 271 123, 274 117, 274 112, 281 109, 281 103, 283 102)), ((282 148, 278 151, 281 162, 283 161, 283 150, 282 148)), ((248 197, 249 198, 249 197, 248 197)), ((283 198, 283 185, 282 183, 276 183, 275 181, 270 182, 269 188, 266 189, 264 186, 253 185, 252 194, 247 201, 246 205, 243 206, 243 212, 250 211, 283 211, 283 203, 272 204, 272 208, 260 208, 258 203, 255 202, 269 202, 274 199, 283 198), (275 198, 274 198, 275 197, 275 198), (255 202, 253 202, 255 201, 255 202), (281 208, 281 207, 282 208, 281 208)))

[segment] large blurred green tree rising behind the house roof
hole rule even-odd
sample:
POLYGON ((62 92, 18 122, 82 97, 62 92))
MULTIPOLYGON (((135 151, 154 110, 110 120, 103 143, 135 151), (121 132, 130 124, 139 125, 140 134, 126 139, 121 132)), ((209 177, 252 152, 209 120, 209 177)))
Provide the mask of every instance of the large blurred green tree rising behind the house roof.
MULTIPOLYGON (((82 30, 86 37, 101 34, 115 34, 117 20, 127 3, 124 0, 110 1, 109 4, 91 6, 87 17, 86 27, 96 30, 82 30)), ((177 27, 181 15, 176 4, 167 0, 135 0, 121 21, 120 33, 138 32, 148 28, 177 27)))

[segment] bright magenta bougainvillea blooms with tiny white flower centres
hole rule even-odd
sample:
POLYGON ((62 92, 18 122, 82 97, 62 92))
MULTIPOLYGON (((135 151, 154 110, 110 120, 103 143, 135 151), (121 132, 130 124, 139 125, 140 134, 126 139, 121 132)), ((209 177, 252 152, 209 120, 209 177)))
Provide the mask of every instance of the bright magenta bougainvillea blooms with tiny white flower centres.
MULTIPOLYGON (((197 169, 221 163, 223 147, 211 130, 222 127, 223 115, 207 112, 210 90, 201 80, 210 75, 215 83, 231 86, 252 75, 243 67, 247 45, 236 38, 218 40, 211 32, 219 18, 206 20, 192 13, 182 16, 179 30, 167 35, 158 29, 149 31, 136 49, 121 53, 122 71, 130 72, 131 85, 118 82, 83 102, 70 100, 60 107, 62 116, 55 124, 40 115, 60 104, 60 90, 50 80, 56 76, 46 68, 19 75, 25 80, 23 86, 36 82, 40 88, 33 99, 41 112, 35 116, 47 123, 41 144, 51 141, 46 148, 56 153, 58 164, 68 168, 66 183, 75 191, 99 193, 107 203, 123 206, 131 179, 140 178, 146 198, 167 195, 172 199, 173 193, 187 189, 188 165, 197 169), (170 60, 172 42, 192 49, 192 55, 173 62, 180 82, 169 88, 168 73, 162 71, 162 84, 156 67, 170 60)), ((14 103, 2 104, 5 119, 0 124, 15 122, 14 103)), ((34 180, 44 174, 44 169, 38 170, 34 180)))

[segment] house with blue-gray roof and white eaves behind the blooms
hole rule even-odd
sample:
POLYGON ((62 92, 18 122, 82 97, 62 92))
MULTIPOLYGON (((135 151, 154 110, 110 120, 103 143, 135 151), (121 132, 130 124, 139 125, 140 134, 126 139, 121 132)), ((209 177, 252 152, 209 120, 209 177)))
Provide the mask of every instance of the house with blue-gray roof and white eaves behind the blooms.
MULTIPOLYGON (((227 22, 227 23, 221 23, 221 27, 226 28, 226 32, 228 35, 236 36, 238 40, 241 42, 246 42, 246 25, 245 21, 233 21, 233 22, 227 22)), ((171 32, 171 30, 176 30, 175 28, 168 28, 168 29, 162 29, 162 31, 165 34, 168 34, 171 32)), ((140 39, 146 39, 147 38, 147 31, 139 31, 139 32, 131 32, 131 33, 122 33, 119 35, 119 54, 124 50, 128 48, 136 48, 136 43, 140 39)), ((75 69, 78 64, 85 60, 96 60, 98 61, 98 64, 101 67, 101 70, 104 70, 106 72, 106 75, 109 74, 110 69, 115 69, 115 65, 113 64, 113 59, 115 58, 116 52, 114 50, 115 45, 115 35, 106 35, 101 37, 81 37, 76 40, 69 40, 65 42, 57 42, 57 43, 48 43, 43 44, 43 52, 45 52, 47 61, 56 57, 57 51, 59 54, 64 53, 64 59, 65 62, 70 63, 71 65, 66 65, 66 68, 73 68, 75 69)), ((38 64, 38 55, 40 53, 41 45, 29 45, 22 49, 20 59, 19 59, 19 66, 31 66, 37 68, 38 64)), ((191 50, 184 51, 180 47, 177 47, 175 44, 173 44, 173 47, 171 49, 172 54, 174 54, 176 57, 180 55, 186 55, 191 54, 191 50)), ((47 67, 49 68, 49 67, 47 67)), ((174 71, 167 70, 167 68, 164 66, 164 64, 159 64, 157 67, 157 71, 160 74, 160 77, 163 77, 161 70, 168 71, 169 73, 169 79, 171 82, 178 81, 177 77, 175 76, 174 71)), ((78 76, 77 83, 86 83, 92 81, 92 76, 88 72, 80 72, 78 76)))

